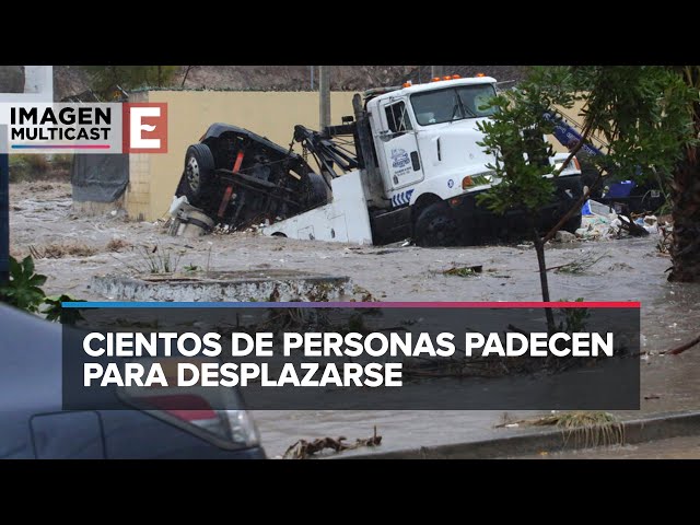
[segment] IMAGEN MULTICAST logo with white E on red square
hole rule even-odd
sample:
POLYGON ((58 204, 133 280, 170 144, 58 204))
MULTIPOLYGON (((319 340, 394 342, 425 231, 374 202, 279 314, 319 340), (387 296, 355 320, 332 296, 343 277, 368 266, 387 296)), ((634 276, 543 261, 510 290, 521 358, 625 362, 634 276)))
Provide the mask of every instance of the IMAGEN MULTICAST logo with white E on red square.
POLYGON ((0 153, 166 153, 167 104, 0 103, 0 153))

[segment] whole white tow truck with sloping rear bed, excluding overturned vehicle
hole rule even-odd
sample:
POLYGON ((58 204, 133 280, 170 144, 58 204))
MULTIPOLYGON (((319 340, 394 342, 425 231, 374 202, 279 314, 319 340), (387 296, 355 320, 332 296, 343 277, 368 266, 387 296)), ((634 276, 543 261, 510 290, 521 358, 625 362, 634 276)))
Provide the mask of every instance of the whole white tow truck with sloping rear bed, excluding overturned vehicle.
MULTIPOLYGON (((487 167, 494 159, 478 144, 483 133, 477 127, 492 115, 487 101, 495 88, 490 77, 446 77, 371 90, 364 101, 355 95, 354 121, 320 133, 296 126, 295 139, 330 179, 331 198, 262 233, 359 244, 411 237, 434 246, 475 244, 522 225, 518 213, 498 218, 475 200, 499 182, 487 167), (342 136, 352 137, 354 155, 338 142, 342 136)), ((552 171, 565 158, 556 155, 552 171)), ((556 186, 555 200, 541 210, 540 228, 553 225, 581 196, 579 166, 562 171, 556 186)), ((565 229, 580 223, 579 213, 565 229)))

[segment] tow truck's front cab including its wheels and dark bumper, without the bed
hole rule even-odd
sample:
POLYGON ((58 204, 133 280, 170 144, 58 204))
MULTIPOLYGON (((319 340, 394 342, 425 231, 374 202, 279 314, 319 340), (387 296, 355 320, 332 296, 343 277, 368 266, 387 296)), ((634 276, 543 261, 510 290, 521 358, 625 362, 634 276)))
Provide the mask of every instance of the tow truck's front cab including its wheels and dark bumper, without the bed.
MULTIPOLYGON (((376 244, 408 236, 421 245, 472 244, 522 225, 514 217, 494 217, 475 200, 499 182, 487 167, 494 158, 479 145, 483 133, 478 129, 495 110, 488 106, 495 84, 490 77, 445 78, 369 93, 365 117, 374 151, 363 156, 365 163, 374 156, 375 170, 365 177, 374 172, 381 184, 364 186, 376 244)), ((553 225, 581 196, 578 167, 564 170, 556 185, 556 201, 542 210, 540 228, 553 225)), ((565 228, 573 230, 580 221, 578 214, 565 228)))

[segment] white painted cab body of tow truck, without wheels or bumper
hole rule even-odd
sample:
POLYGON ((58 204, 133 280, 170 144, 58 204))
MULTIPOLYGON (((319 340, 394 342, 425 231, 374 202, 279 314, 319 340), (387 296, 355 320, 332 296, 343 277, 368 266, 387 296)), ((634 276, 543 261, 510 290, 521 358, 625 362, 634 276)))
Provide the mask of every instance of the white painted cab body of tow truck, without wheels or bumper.
POLYGON ((492 182, 486 165, 494 159, 477 145, 483 138, 477 124, 492 115, 483 106, 494 94, 495 80, 483 77, 407 86, 366 103, 392 208, 415 205, 427 194, 446 200, 480 186, 467 176, 471 183, 492 182))

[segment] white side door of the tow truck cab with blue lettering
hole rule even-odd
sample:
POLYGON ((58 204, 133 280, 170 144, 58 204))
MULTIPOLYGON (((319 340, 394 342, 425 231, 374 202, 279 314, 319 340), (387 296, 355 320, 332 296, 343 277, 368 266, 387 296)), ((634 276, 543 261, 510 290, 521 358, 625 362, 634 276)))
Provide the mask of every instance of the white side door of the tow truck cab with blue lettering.
POLYGON ((387 190, 396 190, 423 179, 423 166, 411 116, 404 101, 386 100, 380 104, 381 128, 377 133, 380 163, 387 190))

